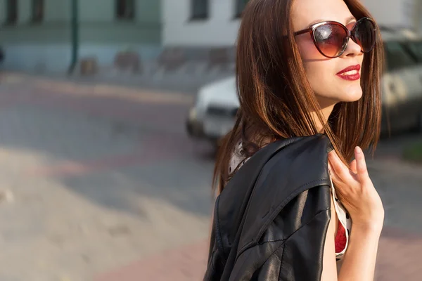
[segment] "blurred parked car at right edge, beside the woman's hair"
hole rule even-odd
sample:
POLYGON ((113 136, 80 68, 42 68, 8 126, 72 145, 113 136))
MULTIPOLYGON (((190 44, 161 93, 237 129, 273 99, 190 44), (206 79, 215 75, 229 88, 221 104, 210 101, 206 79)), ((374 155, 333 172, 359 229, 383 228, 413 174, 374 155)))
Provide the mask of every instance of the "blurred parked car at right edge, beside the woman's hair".
POLYGON ((422 132, 422 39, 387 37, 384 48, 381 133, 422 132))

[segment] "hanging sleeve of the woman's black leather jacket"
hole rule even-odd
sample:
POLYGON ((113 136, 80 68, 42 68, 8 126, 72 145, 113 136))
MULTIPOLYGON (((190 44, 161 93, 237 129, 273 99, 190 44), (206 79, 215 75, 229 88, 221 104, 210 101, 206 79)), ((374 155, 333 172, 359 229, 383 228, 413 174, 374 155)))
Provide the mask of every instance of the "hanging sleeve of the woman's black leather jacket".
POLYGON ((260 241, 238 256, 229 280, 321 280, 330 200, 326 185, 291 200, 260 241))

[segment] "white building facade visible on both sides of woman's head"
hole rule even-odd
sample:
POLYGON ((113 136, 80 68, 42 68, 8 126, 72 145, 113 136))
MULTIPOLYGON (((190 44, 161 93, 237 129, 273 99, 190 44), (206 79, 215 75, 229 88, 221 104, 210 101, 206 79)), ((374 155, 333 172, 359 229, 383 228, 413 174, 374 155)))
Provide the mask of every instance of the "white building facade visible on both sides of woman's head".
MULTIPOLYGON (((233 46, 248 0, 162 0, 165 46, 233 46)), ((384 26, 422 33, 421 0, 361 0, 384 26)))

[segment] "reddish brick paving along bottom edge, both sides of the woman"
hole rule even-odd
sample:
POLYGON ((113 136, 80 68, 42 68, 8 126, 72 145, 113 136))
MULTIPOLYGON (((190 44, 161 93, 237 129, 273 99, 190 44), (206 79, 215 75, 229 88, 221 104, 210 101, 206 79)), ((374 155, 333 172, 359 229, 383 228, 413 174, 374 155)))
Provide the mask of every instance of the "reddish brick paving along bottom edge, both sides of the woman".
MULTIPOLYGON (((186 247, 142 259, 130 266, 102 275, 96 281, 198 281, 207 261, 208 243, 186 247)), ((421 281, 422 237, 385 228, 378 247, 376 281, 421 281)))

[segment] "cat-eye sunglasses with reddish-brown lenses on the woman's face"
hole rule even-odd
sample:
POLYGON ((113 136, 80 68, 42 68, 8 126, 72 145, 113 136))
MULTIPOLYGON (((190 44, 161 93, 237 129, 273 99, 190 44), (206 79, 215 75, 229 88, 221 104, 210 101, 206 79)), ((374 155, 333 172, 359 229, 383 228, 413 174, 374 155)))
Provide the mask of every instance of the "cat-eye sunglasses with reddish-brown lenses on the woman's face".
POLYGON ((352 30, 340 22, 326 21, 311 25, 306 30, 295 32, 296 35, 309 33, 319 53, 326 58, 338 58, 342 55, 350 38, 361 47, 362 53, 369 53, 376 43, 376 24, 371 18, 361 18, 354 23, 352 30))

